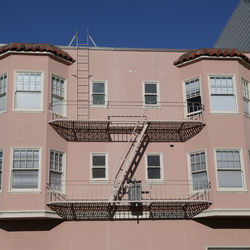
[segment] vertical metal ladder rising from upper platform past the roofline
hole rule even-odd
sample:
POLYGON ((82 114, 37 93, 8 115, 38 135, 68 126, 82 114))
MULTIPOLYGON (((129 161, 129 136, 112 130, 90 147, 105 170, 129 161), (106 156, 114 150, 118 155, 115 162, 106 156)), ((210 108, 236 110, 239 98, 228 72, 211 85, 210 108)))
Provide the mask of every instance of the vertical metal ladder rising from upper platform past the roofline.
POLYGON ((77 120, 89 119, 89 35, 80 44, 76 36, 77 120))

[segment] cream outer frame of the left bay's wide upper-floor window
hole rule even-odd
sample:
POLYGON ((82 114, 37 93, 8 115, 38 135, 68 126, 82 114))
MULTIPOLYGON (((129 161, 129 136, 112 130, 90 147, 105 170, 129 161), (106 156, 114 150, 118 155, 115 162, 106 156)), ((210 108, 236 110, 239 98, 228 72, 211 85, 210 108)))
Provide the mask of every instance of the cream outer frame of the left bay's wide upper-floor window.
MULTIPOLYGON (((25 91, 28 92, 28 91, 25 91)), ((44 72, 40 70, 15 70, 14 71, 14 85, 13 85, 13 108, 12 111, 14 112, 31 112, 31 113, 40 113, 43 111, 43 94, 44 93, 44 72), (34 92, 40 92, 40 108, 38 109, 22 109, 22 108, 16 108, 16 92, 17 91, 17 74, 18 73, 39 73, 41 74, 41 91, 34 91, 34 92)))

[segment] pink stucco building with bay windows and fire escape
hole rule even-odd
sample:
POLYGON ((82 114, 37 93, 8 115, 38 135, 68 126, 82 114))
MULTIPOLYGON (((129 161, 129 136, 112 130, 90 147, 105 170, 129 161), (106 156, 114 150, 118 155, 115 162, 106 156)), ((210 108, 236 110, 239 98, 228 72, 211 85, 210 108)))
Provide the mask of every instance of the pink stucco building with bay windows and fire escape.
POLYGON ((0 249, 249 250, 249 55, 1 46, 0 249))

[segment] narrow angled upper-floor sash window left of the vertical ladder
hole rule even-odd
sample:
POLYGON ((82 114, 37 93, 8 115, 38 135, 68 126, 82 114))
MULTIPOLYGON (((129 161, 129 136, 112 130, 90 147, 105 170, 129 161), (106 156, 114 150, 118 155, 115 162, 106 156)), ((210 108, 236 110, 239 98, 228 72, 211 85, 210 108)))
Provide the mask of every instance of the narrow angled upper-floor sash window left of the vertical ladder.
POLYGON ((51 108, 52 111, 64 115, 64 95, 65 95, 65 80, 57 77, 52 76, 52 83, 51 83, 51 108))

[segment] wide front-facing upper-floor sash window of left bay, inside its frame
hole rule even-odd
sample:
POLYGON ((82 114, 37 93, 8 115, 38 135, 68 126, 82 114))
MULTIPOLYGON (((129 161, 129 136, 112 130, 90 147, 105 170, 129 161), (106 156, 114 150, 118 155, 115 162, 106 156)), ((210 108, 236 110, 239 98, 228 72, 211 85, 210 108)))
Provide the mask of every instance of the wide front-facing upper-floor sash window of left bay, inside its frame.
POLYGON ((42 109, 42 73, 16 72, 15 109, 42 109))

